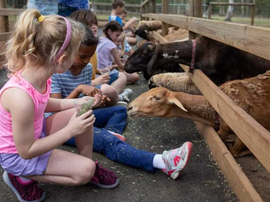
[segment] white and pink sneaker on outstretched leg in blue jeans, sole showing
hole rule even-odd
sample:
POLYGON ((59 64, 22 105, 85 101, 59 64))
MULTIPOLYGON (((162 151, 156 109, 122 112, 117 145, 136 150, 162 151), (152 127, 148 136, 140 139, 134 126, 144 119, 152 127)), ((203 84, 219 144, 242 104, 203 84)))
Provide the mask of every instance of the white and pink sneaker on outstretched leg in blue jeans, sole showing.
POLYGON ((182 147, 163 151, 162 159, 166 168, 162 169, 162 171, 175 180, 179 176, 180 171, 187 165, 192 152, 192 146, 191 142, 185 142, 182 147))

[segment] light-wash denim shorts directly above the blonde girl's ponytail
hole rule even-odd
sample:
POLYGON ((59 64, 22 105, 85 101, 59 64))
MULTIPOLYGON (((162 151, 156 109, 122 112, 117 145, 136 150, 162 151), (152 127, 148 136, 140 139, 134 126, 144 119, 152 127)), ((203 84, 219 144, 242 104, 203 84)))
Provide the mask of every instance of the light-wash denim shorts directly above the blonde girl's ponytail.
POLYGON ((37 9, 42 15, 58 13, 58 0, 28 0, 27 8, 37 9))

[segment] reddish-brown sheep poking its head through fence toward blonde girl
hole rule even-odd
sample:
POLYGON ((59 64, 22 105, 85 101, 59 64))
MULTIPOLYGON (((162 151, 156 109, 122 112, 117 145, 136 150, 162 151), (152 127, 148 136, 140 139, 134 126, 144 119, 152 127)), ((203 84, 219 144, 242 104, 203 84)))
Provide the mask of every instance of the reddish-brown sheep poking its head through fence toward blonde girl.
MULTIPOLYGON (((270 130, 270 71, 248 79, 228 81, 219 88, 258 123, 270 130)), ((128 115, 131 117, 181 116, 212 127, 215 125, 215 113, 215 109, 203 95, 172 92, 162 87, 140 95, 128 106, 128 115)), ((221 117, 217 134, 228 143, 232 156, 240 157, 251 153, 221 117)))

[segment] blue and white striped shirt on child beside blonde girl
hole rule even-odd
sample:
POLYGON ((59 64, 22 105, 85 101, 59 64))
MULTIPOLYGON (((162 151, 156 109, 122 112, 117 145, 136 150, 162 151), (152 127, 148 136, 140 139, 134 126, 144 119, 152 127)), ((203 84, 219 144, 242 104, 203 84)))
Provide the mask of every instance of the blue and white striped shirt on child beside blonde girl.
MULTIPOLYGON (((63 74, 52 75, 52 92, 61 93, 62 98, 67 97, 80 84, 91 85, 93 67, 90 63, 83 68, 82 72, 74 76, 70 71, 65 71, 63 74)), ((79 98, 83 97, 80 94, 79 98)))

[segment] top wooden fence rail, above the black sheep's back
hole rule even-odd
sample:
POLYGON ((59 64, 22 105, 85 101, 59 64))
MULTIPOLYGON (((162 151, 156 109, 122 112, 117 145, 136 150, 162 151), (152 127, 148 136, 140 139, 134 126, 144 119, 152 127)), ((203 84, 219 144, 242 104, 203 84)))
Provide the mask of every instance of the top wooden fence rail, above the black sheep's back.
POLYGON ((270 60, 270 28, 179 15, 149 13, 143 17, 193 31, 270 60))

